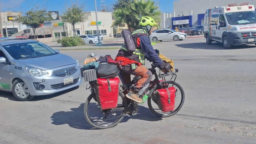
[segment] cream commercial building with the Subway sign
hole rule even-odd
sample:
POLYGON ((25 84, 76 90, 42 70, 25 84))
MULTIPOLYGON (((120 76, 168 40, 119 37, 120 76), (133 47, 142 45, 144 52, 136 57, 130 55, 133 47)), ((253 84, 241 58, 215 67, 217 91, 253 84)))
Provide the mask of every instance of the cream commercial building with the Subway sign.
MULTIPOLYGON (((75 24, 75 34, 76 35, 86 35, 86 34, 97 34, 96 26, 96 15, 95 11, 84 12, 85 21, 75 24)), ((109 37, 113 35, 112 29, 112 14, 111 12, 97 12, 98 16, 98 26, 99 34, 103 34, 104 37, 109 37)), ((60 39, 65 35, 73 35, 73 26, 70 23, 63 23, 61 18, 52 22, 52 35, 53 40, 60 39), (64 27, 64 30, 63 30, 64 27), (64 33, 65 31, 65 33, 64 33)))

